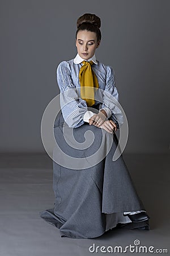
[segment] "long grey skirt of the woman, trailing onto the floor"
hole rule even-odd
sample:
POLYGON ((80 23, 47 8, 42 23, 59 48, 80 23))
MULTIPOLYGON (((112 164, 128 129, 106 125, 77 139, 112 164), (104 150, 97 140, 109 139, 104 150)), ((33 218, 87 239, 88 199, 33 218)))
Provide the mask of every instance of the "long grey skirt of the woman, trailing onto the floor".
MULTIPOLYGON (((54 136, 59 148, 73 158, 88 159, 88 156, 95 154, 100 148, 103 137, 106 145, 103 151, 107 148, 108 142, 112 141, 111 139, 113 142, 111 150, 103 160, 82 170, 63 167, 62 163, 65 159, 59 155, 57 150, 54 150, 53 159, 55 157, 58 159, 57 163, 53 161, 55 203, 54 208, 41 212, 41 217, 56 226, 62 237, 95 238, 107 230, 109 216, 113 220, 114 216, 117 217, 120 214, 123 216, 123 212, 145 210, 135 191, 122 155, 116 161, 112 160, 118 144, 116 134, 109 134, 94 125, 84 123, 73 129, 76 141, 84 142, 84 133, 87 130, 91 130, 95 138, 90 147, 80 150, 71 147, 71 144, 66 142, 63 136, 63 125, 67 131, 71 129, 64 122, 60 111, 54 123, 54 136)), ((100 154, 99 156, 101 157, 100 154)), ((138 224, 125 222, 120 222, 120 226, 130 229, 149 229, 148 221, 138 224)))

